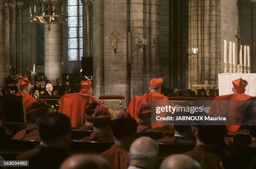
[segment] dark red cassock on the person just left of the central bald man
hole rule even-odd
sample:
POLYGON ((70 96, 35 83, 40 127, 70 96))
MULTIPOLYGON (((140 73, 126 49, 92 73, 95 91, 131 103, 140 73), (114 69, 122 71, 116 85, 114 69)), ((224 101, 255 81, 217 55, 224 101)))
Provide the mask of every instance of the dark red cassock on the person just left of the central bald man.
POLYGON ((119 145, 113 145, 100 155, 108 160, 113 169, 127 169, 129 167, 129 152, 119 145))

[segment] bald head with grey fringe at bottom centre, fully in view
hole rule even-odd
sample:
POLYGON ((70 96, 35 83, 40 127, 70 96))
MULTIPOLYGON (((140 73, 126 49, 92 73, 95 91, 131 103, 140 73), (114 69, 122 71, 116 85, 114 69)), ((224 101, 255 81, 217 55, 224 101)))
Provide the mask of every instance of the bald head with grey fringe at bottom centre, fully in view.
POLYGON ((140 137, 136 139, 130 148, 130 157, 132 159, 141 159, 146 161, 156 161, 159 147, 157 143, 149 137, 140 137))

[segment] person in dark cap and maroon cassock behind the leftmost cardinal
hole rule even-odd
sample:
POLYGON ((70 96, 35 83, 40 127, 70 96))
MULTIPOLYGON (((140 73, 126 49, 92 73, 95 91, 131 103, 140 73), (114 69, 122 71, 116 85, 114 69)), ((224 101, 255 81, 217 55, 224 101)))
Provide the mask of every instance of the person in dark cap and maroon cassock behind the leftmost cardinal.
POLYGON ((39 99, 37 102, 33 102, 32 106, 28 109, 27 112, 26 129, 16 133, 13 136, 13 139, 40 140, 37 122, 42 115, 47 113, 49 113, 49 105, 47 105, 43 99, 39 99))

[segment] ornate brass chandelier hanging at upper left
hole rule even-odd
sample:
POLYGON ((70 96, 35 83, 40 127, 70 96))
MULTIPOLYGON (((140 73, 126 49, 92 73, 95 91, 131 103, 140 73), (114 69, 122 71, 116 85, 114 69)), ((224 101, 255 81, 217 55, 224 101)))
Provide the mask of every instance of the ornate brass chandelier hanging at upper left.
POLYGON ((67 15, 63 14, 63 1, 59 0, 35 0, 33 13, 30 7, 30 21, 46 23, 48 31, 51 31, 51 24, 62 23, 67 20, 67 15))

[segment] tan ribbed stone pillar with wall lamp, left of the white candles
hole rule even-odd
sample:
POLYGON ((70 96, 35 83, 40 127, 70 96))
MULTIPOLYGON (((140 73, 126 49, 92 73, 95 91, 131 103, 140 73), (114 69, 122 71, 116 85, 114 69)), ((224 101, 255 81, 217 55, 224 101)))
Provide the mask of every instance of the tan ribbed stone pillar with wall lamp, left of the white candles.
POLYGON ((189 88, 217 85, 220 73, 220 0, 189 0, 189 88))

